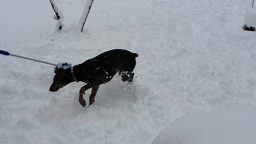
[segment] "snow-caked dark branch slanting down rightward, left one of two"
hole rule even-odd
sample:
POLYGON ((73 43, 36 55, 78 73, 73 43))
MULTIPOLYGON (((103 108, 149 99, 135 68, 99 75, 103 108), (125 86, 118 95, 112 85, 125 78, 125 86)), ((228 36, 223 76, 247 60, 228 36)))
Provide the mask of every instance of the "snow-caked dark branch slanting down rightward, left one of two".
POLYGON ((52 5, 52 9, 55 12, 55 15, 53 18, 54 20, 58 20, 56 24, 56 30, 61 30, 63 27, 63 18, 64 18, 63 13, 60 9, 58 9, 55 0, 50 0, 50 3, 52 5))

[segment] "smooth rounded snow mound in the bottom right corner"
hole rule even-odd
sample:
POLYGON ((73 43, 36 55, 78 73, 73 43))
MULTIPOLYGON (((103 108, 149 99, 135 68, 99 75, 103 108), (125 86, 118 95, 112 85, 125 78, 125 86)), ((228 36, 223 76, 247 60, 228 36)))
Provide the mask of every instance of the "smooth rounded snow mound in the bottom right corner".
POLYGON ((256 107, 191 114, 172 122, 152 144, 254 144, 256 107))

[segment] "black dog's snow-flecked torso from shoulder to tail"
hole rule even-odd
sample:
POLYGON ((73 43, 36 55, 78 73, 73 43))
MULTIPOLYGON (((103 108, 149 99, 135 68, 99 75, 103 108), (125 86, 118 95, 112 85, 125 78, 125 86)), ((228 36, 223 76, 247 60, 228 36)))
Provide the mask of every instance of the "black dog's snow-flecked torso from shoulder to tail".
POLYGON ((136 65, 138 54, 128 50, 114 49, 78 64, 90 81, 108 82, 119 71, 130 75, 136 65))

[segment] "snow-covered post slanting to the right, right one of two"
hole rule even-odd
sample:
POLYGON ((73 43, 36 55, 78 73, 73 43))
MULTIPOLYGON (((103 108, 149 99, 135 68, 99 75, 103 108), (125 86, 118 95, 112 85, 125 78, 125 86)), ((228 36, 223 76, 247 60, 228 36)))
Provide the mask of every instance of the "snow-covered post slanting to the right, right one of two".
POLYGON ((90 12, 90 9, 92 7, 92 2, 94 0, 87 0, 86 4, 85 4, 85 7, 84 7, 84 11, 82 12, 82 15, 81 15, 81 18, 80 20, 78 21, 78 26, 79 26, 79 29, 81 30, 81 32, 83 31, 83 28, 84 28, 84 24, 85 24, 85 21, 88 17, 88 14, 90 12))

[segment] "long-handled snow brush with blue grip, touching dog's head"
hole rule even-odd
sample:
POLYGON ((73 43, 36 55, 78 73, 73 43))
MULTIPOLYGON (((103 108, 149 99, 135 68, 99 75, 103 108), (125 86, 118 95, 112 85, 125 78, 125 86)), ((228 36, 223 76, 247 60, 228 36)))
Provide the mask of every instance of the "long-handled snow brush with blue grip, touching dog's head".
POLYGON ((67 68, 70 68, 72 66, 71 64, 68 64, 67 62, 66 63, 61 63, 60 62, 58 64, 52 64, 52 63, 49 63, 49 62, 44 62, 44 61, 36 60, 36 59, 33 59, 33 58, 27 58, 27 57, 24 57, 24 56, 18 56, 16 54, 10 54, 9 52, 6 52, 4 50, 0 50, 0 54, 3 54, 5 56, 15 56, 15 57, 18 57, 18 58, 24 58, 24 59, 32 60, 32 61, 35 61, 35 62, 41 62, 41 63, 44 63, 44 64, 49 64, 49 65, 55 66, 54 71, 58 70, 59 68, 67 69, 67 68))

